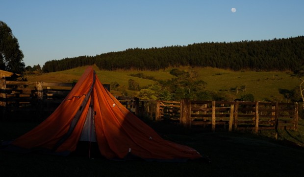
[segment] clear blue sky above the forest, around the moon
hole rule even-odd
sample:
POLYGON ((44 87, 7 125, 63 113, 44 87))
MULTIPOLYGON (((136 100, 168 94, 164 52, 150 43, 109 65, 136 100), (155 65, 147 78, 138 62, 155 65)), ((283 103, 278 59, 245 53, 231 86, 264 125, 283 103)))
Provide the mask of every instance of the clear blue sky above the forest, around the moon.
POLYGON ((136 47, 303 36, 304 0, 0 0, 0 21, 25 66, 43 66, 136 47))

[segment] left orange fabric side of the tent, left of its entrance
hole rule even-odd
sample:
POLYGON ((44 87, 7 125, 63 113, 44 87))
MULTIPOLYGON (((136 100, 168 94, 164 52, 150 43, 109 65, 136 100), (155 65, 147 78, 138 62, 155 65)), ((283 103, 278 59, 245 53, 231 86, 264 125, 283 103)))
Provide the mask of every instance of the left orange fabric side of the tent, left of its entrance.
POLYGON ((27 149, 35 147, 52 149, 55 143, 68 132, 73 117, 90 89, 88 85, 91 86, 93 83, 93 74, 94 72, 88 68, 67 97, 45 121, 11 144, 27 149))

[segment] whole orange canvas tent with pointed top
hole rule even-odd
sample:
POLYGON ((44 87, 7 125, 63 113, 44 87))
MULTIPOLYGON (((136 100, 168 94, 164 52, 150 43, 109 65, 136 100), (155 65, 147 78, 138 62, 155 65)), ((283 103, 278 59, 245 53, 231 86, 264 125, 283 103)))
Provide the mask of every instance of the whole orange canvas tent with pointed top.
POLYGON ((129 112, 88 67, 59 107, 36 128, 10 142, 10 149, 68 155, 79 141, 97 142, 108 159, 200 159, 196 150, 161 138, 129 112))

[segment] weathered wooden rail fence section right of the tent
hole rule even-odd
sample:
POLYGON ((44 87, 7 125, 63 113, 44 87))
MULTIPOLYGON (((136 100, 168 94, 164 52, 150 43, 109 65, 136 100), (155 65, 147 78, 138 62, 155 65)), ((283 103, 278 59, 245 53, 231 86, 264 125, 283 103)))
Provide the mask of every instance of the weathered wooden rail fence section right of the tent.
POLYGON ((156 120, 179 122, 186 129, 298 130, 298 103, 241 101, 157 101, 156 120))

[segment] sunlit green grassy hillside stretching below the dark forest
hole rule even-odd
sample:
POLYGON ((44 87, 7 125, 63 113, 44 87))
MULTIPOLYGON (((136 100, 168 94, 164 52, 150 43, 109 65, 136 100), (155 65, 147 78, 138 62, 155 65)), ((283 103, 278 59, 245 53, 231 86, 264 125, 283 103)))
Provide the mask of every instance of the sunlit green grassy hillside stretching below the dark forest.
MULTIPOLYGON (((159 71, 136 71, 136 70, 99 70, 97 66, 93 66, 101 83, 110 84, 117 82, 121 86, 128 87, 128 80, 133 79, 142 86, 154 84, 154 81, 130 76, 138 72, 147 76, 153 76, 155 79, 171 79, 169 72, 172 68, 162 69, 159 71)), ((73 82, 79 79, 87 66, 76 67, 69 70, 50 72, 41 75, 25 75, 28 81, 45 81, 45 82, 73 82)), ((253 94, 258 101, 278 100, 286 101, 279 89, 291 90, 299 86, 299 79, 291 76, 291 72, 254 72, 254 71, 230 71, 212 67, 180 67, 185 71, 196 72, 198 79, 207 83, 207 89, 221 92, 228 95, 230 100, 240 98, 244 94, 253 94), (246 87, 241 90, 242 86, 246 87), (239 88, 238 93, 235 88, 239 88)), ((120 94, 114 92, 114 94, 120 94)), ((135 93, 132 93, 135 94, 135 93)))

